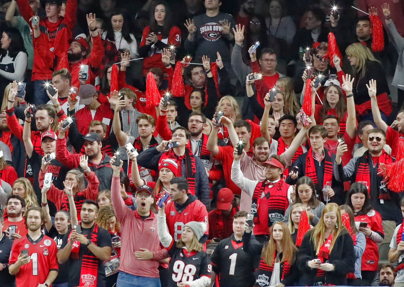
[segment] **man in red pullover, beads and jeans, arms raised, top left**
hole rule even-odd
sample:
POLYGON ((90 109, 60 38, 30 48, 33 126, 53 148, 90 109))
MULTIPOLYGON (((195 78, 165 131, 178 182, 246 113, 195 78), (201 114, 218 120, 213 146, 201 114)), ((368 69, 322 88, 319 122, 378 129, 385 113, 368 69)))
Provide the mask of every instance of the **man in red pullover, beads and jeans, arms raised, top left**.
MULTIPOLYGON (((35 14, 27 0, 17 0, 18 8, 25 21, 31 27, 31 17, 35 14)), ((72 30, 76 25, 77 1, 67 0, 65 17, 59 17, 62 8, 61 0, 44 0, 46 18, 39 20, 41 34, 44 37, 42 44, 33 38, 34 44, 34 65, 32 67, 32 81, 34 81, 34 99, 35 104, 46 103, 48 97, 44 90, 44 81, 52 78, 52 72, 56 66, 53 61, 41 57, 40 50, 47 50, 54 57, 61 57, 63 52, 69 49, 67 39, 72 38, 72 30)))

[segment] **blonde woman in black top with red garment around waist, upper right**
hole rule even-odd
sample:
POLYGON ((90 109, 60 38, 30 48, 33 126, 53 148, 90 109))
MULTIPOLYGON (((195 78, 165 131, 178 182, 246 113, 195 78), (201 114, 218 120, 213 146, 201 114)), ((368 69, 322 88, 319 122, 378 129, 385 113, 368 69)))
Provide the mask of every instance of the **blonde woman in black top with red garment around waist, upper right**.
MULTIPOLYGON (((391 101, 387 98, 390 93, 389 85, 385 76, 383 66, 373 56, 372 52, 361 43, 353 43, 345 50, 349 64, 353 68, 353 96, 356 103, 356 111, 362 120, 373 120, 372 107, 366 84, 374 79, 377 82, 377 103, 382 119, 387 121, 391 112, 391 101)), ((337 65, 336 65, 337 66, 337 65)), ((337 71, 341 69, 337 66, 337 71)))

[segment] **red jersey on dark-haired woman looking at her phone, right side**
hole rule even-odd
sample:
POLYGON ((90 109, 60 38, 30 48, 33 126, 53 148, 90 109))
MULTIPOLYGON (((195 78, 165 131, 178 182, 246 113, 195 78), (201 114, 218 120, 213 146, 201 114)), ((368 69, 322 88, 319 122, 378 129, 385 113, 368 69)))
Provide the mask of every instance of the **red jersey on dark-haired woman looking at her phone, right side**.
MULTIPOLYGON (((381 224, 381 215, 374 209, 371 209, 365 215, 356 215, 355 221, 367 222, 372 231, 375 231, 380 235, 384 234, 383 226, 381 224)), ((366 271, 376 271, 378 262, 379 249, 377 247, 377 243, 372 241, 369 237, 366 237, 366 248, 362 254, 362 265, 360 269, 366 271)))

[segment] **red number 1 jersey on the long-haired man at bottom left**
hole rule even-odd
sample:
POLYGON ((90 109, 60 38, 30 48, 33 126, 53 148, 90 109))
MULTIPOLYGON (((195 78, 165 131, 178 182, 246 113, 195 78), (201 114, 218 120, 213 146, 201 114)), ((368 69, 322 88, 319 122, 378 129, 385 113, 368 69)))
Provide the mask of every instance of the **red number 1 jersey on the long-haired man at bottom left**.
POLYGON ((35 242, 28 235, 18 238, 11 247, 8 266, 17 262, 17 257, 23 249, 28 250, 31 260, 21 266, 15 275, 17 286, 37 287, 45 282, 51 270, 59 271, 57 247, 52 238, 43 234, 35 242))

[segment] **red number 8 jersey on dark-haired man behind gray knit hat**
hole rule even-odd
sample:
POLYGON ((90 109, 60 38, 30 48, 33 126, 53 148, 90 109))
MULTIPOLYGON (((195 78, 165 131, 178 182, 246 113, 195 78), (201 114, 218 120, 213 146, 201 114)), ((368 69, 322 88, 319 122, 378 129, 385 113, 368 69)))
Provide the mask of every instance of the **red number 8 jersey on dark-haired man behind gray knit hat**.
MULTIPOLYGON (((179 205, 170 201, 165 208, 168 232, 175 241, 181 238, 181 232, 187 222, 197 221, 208 224, 208 211, 195 195, 188 194, 187 201, 179 205)), ((208 235, 209 226, 205 232, 208 235)), ((207 237, 206 237, 207 238, 207 237)))

